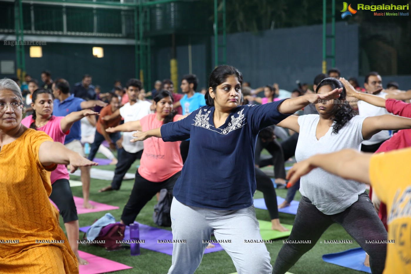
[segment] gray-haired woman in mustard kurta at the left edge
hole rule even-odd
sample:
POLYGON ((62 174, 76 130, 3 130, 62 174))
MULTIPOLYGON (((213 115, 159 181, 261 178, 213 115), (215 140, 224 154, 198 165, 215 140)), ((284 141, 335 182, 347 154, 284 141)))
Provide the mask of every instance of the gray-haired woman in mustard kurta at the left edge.
POLYGON ((79 273, 79 265, 51 205, 56 164, 97 165, 21 124, 22 95, 0 80, 0 269, 5 273, 79 273))

